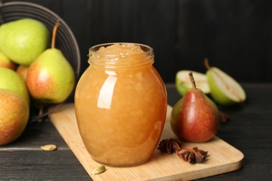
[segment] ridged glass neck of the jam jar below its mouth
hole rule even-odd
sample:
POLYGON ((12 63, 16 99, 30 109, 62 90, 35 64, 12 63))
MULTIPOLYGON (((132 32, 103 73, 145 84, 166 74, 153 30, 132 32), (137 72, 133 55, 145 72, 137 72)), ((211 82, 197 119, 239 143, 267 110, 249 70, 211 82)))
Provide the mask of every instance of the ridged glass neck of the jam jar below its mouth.
POLYGON ((137 43, 107 43, 93 46, 89 49, 89 64, 104 68, 142 68, 154 63, 153 49, 147 45, 137 43), (126 53, 116 50, 114 53, 101 52, 99 49, 118 44, 129 49, 129 46, 137 46, 142 51, 139 53, 126 53))

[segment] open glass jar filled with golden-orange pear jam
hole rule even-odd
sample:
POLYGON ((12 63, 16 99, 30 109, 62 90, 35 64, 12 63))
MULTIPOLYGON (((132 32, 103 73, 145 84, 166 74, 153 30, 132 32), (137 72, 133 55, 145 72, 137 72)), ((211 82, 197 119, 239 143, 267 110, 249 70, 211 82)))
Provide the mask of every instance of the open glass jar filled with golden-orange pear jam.
POLYGON ((109 166, 149 160, 165 125, 167 93, 153 49, 109 43, 89 49, 75 91, 80 135, 92 159, 109 166))

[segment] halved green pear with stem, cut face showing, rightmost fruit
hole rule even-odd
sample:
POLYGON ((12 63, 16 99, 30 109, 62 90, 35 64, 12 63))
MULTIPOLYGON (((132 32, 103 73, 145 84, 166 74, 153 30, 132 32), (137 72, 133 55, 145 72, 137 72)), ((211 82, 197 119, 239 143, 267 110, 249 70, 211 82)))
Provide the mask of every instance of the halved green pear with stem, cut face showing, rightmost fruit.
POLYGON ((232 106, 245 101, 242 86, 228 74, 216 67, 210 67, 208 59, 204 60, 206 76, 211 88, 211 97, 222 106, 232 106))

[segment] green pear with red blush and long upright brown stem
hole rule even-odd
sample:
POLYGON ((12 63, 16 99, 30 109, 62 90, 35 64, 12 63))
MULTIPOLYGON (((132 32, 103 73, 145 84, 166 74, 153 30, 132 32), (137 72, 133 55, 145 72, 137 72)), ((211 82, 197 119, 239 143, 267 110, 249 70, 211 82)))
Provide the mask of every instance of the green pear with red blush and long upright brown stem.
POLYGON ((60 103, 66 100, 75 86, 75 72, 63 56, 54 48, 56 24, 52 36, 52 48, 45 50, 29 66, 27 87, 34 100, 40 103, 60 103))

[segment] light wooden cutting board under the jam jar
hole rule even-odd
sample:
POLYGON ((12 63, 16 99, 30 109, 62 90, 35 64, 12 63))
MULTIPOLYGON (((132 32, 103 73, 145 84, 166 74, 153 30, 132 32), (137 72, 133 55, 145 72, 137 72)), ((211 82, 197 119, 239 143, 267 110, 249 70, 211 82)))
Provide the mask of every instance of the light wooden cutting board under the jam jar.
MULTIPOLYGON (((172 107, 167 107, 167 118, 162 139, 176 138, 169 124, 172 107)), ((215 137, 207 143, 184 143, 189 148, 196 147, 209 151, 206 162, 190 164, 181 160, 175 153, 167 155, 158 149, 146 163, 133 167, 110 167, 99 175, 91 175, 100 166, 88 154, 80 137, 75 118, 74 104, 64 104, 50 114, 53 125, 66 141, 77 159, 93 180, 194 180, 211 175, 235 171, 242 166, 243 153, 222 139, 215 137)))

